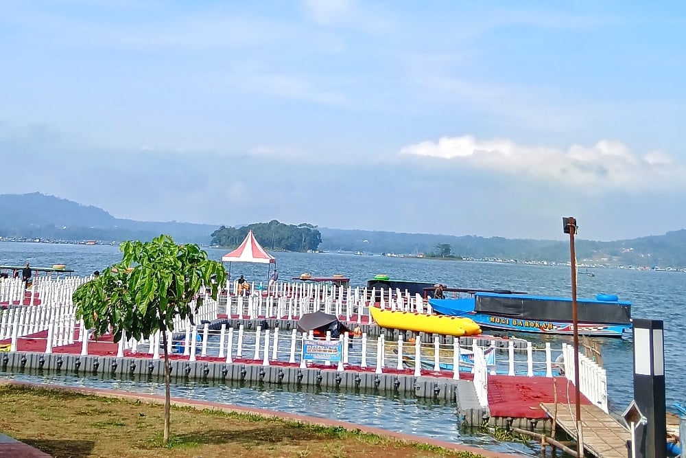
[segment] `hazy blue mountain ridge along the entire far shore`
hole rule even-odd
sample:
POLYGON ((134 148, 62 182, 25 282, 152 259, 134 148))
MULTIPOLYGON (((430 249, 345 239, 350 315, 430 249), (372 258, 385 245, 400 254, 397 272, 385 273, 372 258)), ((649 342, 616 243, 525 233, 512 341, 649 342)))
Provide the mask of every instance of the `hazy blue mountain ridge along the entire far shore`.
MULTIPOLYGON (((241 225, 236 225, 239 227, 241 225)), ((115 218, 104 209, 67 199, 31 194, 0 195, 0 236, 51 240, 150 240, 168 233, 177 242, 209 244, 214 225, 191 222, 143 222, 115 218)), ((429 253, 438 244, 450 244, 451 253, 472 258, 521 261, 569 261, 569 242, 559 240, 484 238, 437 234, 397 233, 318 228, 320 250, 366 253, 429 253)), ((614 242, 577 238, 576 255, 587 264, 639 267, 686 267, 686 229, 663 236, 614 242)))

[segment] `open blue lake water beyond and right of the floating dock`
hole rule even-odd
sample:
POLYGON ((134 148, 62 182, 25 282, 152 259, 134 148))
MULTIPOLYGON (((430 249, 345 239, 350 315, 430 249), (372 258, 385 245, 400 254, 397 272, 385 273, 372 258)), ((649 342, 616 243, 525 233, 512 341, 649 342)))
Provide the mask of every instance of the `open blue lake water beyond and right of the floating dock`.
MULTIPOLYGON (((212 259, 221 260, 227 250, 206 251, 212 259)), ((119 260, 119 247, 0 242, 0 264, 67 264, 76 273, 87 275, 95 270, 102 271, 119 260)), ((340 273, 350 277, 353 286, 364 286, 367 279, 384 273, 392 278, 440 282, 453 287, 506 288, 541 295, 571 295, 570 271, 565 266, 447 262, 336 253, 276 253, 276 260, 282 281, 304 272, 312 276, 340 273)), ((230 269, 232 277, 244 274, 255 282, 267 282, 268 279, 267 264, 233 263, 230 269)), ((592 298, 598 293, 617 294, 620 299, 632 301, 633 317, 665 322, 667 409, 671 409, 674 402, 686 401, 686 384, 681 382, 685 353, 678 341, 686 328, 686 317, 682 312, 686 274, 609 268, 592 271, 594 277, 578 277, 579 298, 592 298)), ((528 334, 528 338, 534 341, 541 339, 533 335, 528 334)), ((564 337, 545 339, 555 342, 556 346, 563 341, 571 342, 571 338, 564 337)), ((600 342, 608 373, 611 408, 622 411, 633 395, 632 341, 600 339, 600 342)))

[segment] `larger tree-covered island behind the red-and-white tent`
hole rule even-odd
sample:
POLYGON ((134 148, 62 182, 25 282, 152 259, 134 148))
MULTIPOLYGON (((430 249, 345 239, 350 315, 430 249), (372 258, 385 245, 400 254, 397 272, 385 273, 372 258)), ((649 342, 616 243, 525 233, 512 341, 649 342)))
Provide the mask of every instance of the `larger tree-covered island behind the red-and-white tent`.
POLYGON ((307 222, 299 225, 285 225, 271 220, 241 227, 220 227, 212 233, 213 246, 237 247, 252 229, 255 238, 266 249, 272 251, 316 251, 322 243, 322 234, 317 227, 307 222))

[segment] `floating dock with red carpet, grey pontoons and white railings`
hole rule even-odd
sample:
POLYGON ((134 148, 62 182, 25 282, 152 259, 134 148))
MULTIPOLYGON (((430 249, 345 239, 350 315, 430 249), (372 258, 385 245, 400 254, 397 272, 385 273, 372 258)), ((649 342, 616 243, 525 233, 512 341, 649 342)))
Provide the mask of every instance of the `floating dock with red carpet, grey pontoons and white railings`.
MULTIPOLYGON (((114 343, 111 335, 92 339, 83 332, 71 295, 86 281, 88 277, 41 279, 30 291, 23 290, 20 282, 3 284, 0 300, 12 306, 0 317, 0 350, 4 350, 0 353, 0 370, 124 378, 163 376, 160 333, 148 339, 114 343), (27 305, 15 305, 15 301, 27 305)), ((343 301, 342 295, 335 291, 329 294, 325 288, 279 289, 281 295, 269 300, 261 295, 224 297, 223 306, 222 301, 205 297, 194 323, 177 320, 176 332, 169 341, 174 380, 235 380, 294 388, 312 385, 327 390, 402 392, 455 402, 466 426, 487 423, 537 431, 552 428, 550 418, 540 407, 542 402, 554 402, 555 398, 560 404, 574 402, 567 399, 567 393, 575 391, 568 389, 569 378, 553 378, 556 371, 552 368, 564 365, 571 357, 565 345, 560 362, 551 354, 560 349, 552 349, 549 344, 536 348, 522 339, 497 335, 457 339, 383 329, 369 321, 370 304, 364 301, 364 290, 352 293, 348 288, 345 297, 354 300, 343 301), (335 314, 354 330, 352 338, 340 337, 335 344, 340 345, 340 356, 329 363, 307 360, 305 341, 312 336, 297 331, 298 318, 316 311, 335 314), (486 350, 497 355, 492 363, 486 362, 486 350), (413 355, 421 364, 409 368, 405 356, 413 355), (468 360, 462 360, 462 356, 468 360), (459 369, 453 371, 453 367, 459 369)), ((385 297, 392 299, 390 310, 430 312, 421 297, 389 291, 381 296, 382 308, 385 297)), ((604 377, 597 368, 587 369, 582 375, 604 377)), ((606 384, 582 384, 582 393, 586 393, 584 386, 606 384)), ((600 399, 593 397, 595 394, 587 393, 594 403, 600 399)), ((591 404, 586 398, 581 402, 591 404)))

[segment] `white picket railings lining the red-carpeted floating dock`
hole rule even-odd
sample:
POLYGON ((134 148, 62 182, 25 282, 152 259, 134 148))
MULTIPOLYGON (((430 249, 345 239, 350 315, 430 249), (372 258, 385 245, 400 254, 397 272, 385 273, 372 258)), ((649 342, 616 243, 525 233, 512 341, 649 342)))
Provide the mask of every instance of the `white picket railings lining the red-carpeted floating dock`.
MULTIPOLYGON (((91 333, 83 329, 75 320, 75 310, 71 301, 73 291, 91 277, 65 277, 51 279, 38 277, 32 288, 23 290, 17 279, 0 281, 0 299, 4 301, 27 301, 32 306, 10 306, 0 316, 0 340, 10 339, 10 351, 17 350, 17 341, 23 336, 45 340, 45 352, 54 352, 64 345, 81 343, 80 354, 88 354, 88 343, 92 342, 91 333), (47 336, 34 334, 47 330, 47 336)), ((276 284, 275 296, 264 297, 255 294, 247 297, 236 297, 227 301, 224 310, 230 316, 279 317, 297 319, 302 314, 322 310, 344 317, 353 323, 360 322, 362 316, 368 316, 368 299, 376 297, 377 290, 366 288, 329 288, 324 284, 276 284), (345 300, 343 299, 345 298, 345 300)), ((10 302, 12 304, 12 302, 10 302)), ((382 307, 391 310, 429 312, 427 304, 420 295, 402 293, 400 290, 384 290, 381 293, 382 307), (386 300, 388 299, 388 302, 386 300)), ((259 360, 263 365, 279 360, 285 363, 307 365, 302 359, 303 339, 311 338, 308 334, 298 334, 296 330, 284 332, 274 330, 246 330, 240 325, 237 330, 222 325, 220 330, 209 330, 201 325, 202 321, 212 321, 220 313, 217 301, 205 295, 202 306, 194 317, 196 325, 189 319, 174 320, 174 333, 169 332, 169 352, 180 353, 189 360, 198 356, 232 360, 259 360), (179 338, 182 336, 182 338, 179 338), (198 337, 200 336, 200 337, 198 337), (172 339, 174 337, 174 339, 172 339)), ((331 339, 331 336, 328 336, 331 339)), ((528 342, 524 350, 515 348, 514 341, 509 341, 503 349, 497 341, 485 346, 460 346, 459 339, 442 344, 434 336, 429 344, 419 339, 413 342, 403 341, 402 334, 396 342, 387 342, 383 334, 370 341, 366 334, 351 338, 348 334, 340 336, 343 358, 338 370, 346 367, 361 369, 374 368, 377 373, 387 369, 407 369, 414 365, 414 374, 422 370, 440 373, 449 372, 453 378, 460 378, 460 371, 471 371, 480 403, 488 403, 488 375, 502 374, 508 376, 546 376, 552 377, 558 368, 564 369, 567 379, 574 379, 573 347, 563 344, 562 349, 552 349, 549 343, 544 348, 535 348, 528 342), (352 343, 352 345, 351 345, 352 343), (413 348, 414 347, 414 348, 413 348), (462 355, 471 352, 473 365, 469 367, 462 360, 462 355), (562 361, 554 358, 553 352, 562 352, 562 361), (488 354, 488 356, 486 356, 488 354), (525 358, 520 355, 525 354, 525 358), (491 356, 492 355, 492 356, 491 356), (419 362, 419 363, 418 363, 419 362), (418 363, 418 364, 417 364, 418 363), (462 367, 464 366, 464 367, 462 367), (462 367, 462 368, 461 368, 462 367)), ((163 341, 160 333, 150 339, 135 341, 121 339, 117 345, 117 355, 125 352, 148 354, 153 359, 161 357, 160 345, 163 341)), ((114 344, 113 344, 114 345, 114 344)), ((606 372, 589 358, 580 355, 580 391, 604 411, 607 411, 606 372)))

